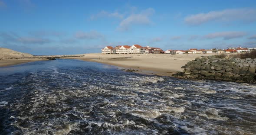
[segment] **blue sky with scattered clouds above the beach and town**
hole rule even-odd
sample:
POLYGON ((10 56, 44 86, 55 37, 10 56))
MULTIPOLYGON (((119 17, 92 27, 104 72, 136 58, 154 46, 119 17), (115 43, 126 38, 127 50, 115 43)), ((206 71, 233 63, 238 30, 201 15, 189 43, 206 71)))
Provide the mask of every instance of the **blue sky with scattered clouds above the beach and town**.
POLYGON ((0 47, 33 55, 256 47, 256 0, 0 0, 0 47))

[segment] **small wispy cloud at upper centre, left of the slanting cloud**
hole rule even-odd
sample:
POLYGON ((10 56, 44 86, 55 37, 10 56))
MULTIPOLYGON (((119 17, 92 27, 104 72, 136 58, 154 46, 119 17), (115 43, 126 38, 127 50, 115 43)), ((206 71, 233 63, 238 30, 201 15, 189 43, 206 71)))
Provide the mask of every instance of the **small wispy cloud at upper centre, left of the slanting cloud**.
POLYGON ((113 13, 109 13, 105 10, 102 10, 101 12, 97 13, 96 15, 91 16, 91 20, 95 20, 101 17, 110 17, 110 18, 118 18, 118 19, 123 19, 124 14, 118 13, 117 11, 113 13))

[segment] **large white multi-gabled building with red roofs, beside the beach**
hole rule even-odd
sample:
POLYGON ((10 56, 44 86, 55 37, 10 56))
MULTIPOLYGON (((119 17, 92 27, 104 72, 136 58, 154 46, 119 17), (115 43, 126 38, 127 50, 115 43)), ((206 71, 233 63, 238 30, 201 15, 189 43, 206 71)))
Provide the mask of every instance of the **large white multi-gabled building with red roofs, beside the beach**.
POLYGON ((102 49, 103 54, 142 54, 142 53, 164 53, 161 48, 150 46, 142 47, 141 45, 118 45, 116 47, 106 46, 102 49))

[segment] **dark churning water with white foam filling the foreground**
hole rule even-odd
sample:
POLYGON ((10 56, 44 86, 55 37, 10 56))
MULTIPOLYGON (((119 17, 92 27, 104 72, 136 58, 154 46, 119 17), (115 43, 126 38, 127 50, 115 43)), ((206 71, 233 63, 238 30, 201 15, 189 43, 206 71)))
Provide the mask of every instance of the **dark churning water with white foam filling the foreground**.
POLYGON ((0 68, 0 134, 256 134, 256 85, 79 60, 0 68))

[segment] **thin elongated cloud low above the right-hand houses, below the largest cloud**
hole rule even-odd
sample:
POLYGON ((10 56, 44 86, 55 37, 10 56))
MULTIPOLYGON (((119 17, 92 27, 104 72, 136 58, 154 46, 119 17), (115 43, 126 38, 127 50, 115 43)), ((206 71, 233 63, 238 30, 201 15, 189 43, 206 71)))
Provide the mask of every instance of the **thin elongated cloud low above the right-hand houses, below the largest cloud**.
POLYGON ((216 32, 205 35, 205 39, 223 38, 225 40, 241 38, 246 35, 246 32, 216 32))

